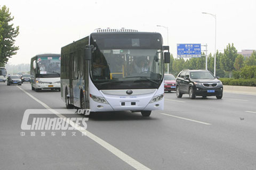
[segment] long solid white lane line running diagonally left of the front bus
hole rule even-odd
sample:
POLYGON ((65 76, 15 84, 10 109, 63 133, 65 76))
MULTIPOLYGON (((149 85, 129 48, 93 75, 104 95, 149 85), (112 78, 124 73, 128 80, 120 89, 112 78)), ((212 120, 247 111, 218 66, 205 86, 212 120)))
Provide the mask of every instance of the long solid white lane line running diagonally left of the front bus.
MULTIPOLYGON (((18 86, 17 86, 18 87, 18 86)), ((35 98, 33 95, 29 94, 27 91, 23 90, 22 88, 18 87, 20 90, 22 90, 23 92, 25 92, 25 94, 27 94, 29 97, 33 98, 34 100, 36 100, 39 104, 43 105, 46 109, 50 109, 50 111, 54 114, 56 114, 57 116, 61 117, 61 118, 65 118, 65 116, 61 115, 59 112, 54 111, 54 109, 50 108, 49 106, 47 106, 45 103, 43 103, 41 100, 35 98)), ((67 120, 66 120, 67 122, 67 120)), ((113 153, 115 156, 117 156, 118 158, 122 159, 125 163, 129 164, 130 166, 134 167, 135 169, 149 169, 148 167, 146 167, 145 165, 139 163, 137 160, 133 159, 132 157, 130 157, 129 155, 126 155, 124 152, 122 152, 121 150, 115 148, 114 146, 110 145, 108 142, 100 139, 99 137, 97 137, 96 135, 92 134, 91 132, 85 130, 83 127, 79 126, 78 124, 70 121, 67 122, 69 123, 71 126, 73 126, 75 129, 77 129, 80 132, 86 132, 86 136, 89 137, 90 139, 92 139, 93 141, 97 142, 99 145, 101 145, 103 148, 106 148, 108 151, 110 151, 111 153, 113 153)))

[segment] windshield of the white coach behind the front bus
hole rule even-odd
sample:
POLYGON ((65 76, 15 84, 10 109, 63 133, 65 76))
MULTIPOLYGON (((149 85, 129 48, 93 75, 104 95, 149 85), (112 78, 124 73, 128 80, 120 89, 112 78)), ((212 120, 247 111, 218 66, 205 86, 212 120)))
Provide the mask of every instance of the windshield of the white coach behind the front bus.
POLYGON ((60 77, 60 57, 38 57, 36 73, 38 78, 60 77))

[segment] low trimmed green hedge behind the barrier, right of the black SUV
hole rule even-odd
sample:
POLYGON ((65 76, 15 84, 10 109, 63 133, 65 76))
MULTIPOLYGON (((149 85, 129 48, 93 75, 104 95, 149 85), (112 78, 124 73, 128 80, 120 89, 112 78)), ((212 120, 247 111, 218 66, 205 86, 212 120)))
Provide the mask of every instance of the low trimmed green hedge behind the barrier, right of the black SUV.
POLYGON ((254 79, 229 79, 229 78, 221 78, 223 85, 229 86, 256 86, 256 78, 254 79))

